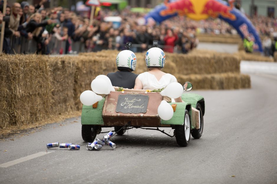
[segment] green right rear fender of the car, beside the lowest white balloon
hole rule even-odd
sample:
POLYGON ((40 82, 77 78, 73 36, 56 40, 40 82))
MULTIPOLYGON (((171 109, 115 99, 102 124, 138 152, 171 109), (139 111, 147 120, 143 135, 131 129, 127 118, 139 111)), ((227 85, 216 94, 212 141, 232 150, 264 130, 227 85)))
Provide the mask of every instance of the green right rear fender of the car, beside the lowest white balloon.
POLYGON ((186 106, 189 105, 189 103, 183 103, 183 102, 174 102, 169 103, 177 104, 176 111, 173 114, 173 117, 170 120, 161 120, 161 125, 183 125, 184 124, 184 117, 185 117, 185 109, 186 106))

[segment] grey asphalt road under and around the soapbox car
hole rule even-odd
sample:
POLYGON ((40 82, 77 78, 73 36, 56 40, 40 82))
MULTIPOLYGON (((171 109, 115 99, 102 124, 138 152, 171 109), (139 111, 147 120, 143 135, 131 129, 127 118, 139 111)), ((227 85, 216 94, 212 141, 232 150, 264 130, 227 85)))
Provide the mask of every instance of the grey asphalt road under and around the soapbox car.
POLYGON ((277 76, 251 74, 251 83, 251 89, 192 91, 204 96, 206 112, 202 137, 187 147, 158 131, 132 129, 111 139, 115 149, 88 151, 80 117, 6 138, 0 183, 277 183, 277 76), (46 148, 55 141, 82 146, 46 148))

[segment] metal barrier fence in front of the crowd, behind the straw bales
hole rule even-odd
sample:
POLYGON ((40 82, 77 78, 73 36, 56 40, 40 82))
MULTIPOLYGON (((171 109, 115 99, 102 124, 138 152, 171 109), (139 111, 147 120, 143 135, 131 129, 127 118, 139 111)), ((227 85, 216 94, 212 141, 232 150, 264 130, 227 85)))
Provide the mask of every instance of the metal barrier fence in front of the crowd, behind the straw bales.
MULTIPOLYGON (((27 39, 23 36, 21 37, 11 37, 10 38, 11 52, 10 54, 32 54, 37 53, 37 42, 34 39, 27 39)), ((144 52, 149 48, 153 47, 152 45, 148 45, 146 48, 142 48, 141 44, 132 44, 130 48, 133 52, 144 52)), ((166 46, 159 45, 161 49, 172 49, 174 52, 178 52, 176 46, 166 46)), ((65 54, 65 53, 80 53, 80 52, 96 52, 103 49, 108 49, 106 47, 100 45, 94 45, 93 48, 85 48, 84 41, 72 41, 72 39, 68 40, 59 40, 54 35, 52 35, 49 44, 45 47, 46 54, 65 54), (66 49, 69 48, 71 51, 66 52, 66 49)), ((121 44, 119 48, 112 48, 118 50, 124 50, 125 44, 121 44)))

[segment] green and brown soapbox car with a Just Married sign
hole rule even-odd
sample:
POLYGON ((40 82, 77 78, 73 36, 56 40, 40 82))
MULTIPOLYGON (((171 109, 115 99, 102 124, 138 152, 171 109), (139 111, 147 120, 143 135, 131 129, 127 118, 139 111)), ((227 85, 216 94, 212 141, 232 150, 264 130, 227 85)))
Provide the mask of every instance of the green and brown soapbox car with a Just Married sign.
MULTIPOLYGON (((185 91, 190 91, 191 88, 185 91)), ((159 127, 169 127, 174 129, 173 136, 164 131, 161 132, 170 137, 175 136, 179 146, 187 146, 190 135, 195 139, 202 136, 205 114, 205 101, 202 96, 183 93, 183 102, 169 103, 172 107, 175 106, 175 111, 173 117, 167 121, 162 120, 157 113, 162 100, 163 96, 158 92, 127 89, 111 91, 93 106, 83 105, 82 138, 86 142, 92 142, 96 135, 101 133, 102 127, 114 127, 117 135, 123 135, 131 127, 158 131, 161 131, 159 127), (194 117, 197 123, 193 123, 194 112, 197 114, 194 117)))

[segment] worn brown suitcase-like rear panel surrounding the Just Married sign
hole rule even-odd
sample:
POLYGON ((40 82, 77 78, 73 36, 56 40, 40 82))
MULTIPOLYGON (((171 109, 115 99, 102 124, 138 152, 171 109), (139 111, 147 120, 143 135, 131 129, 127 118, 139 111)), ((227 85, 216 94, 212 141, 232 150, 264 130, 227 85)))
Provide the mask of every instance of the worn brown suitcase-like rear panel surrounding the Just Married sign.
POLYGON ((158 116, 158 107, 162 101, 162 96, 159 93, 148 92, 124 92, 112 91, 105 97, 103 106, 103 121, 104 126, 123 126, 129 123, 130 126, 160 126, 161 118, 158 116), (124 94, 141 94, 148 95, 149 101, 146 113, 121 113, 116 112, 118 96, 124 94))

